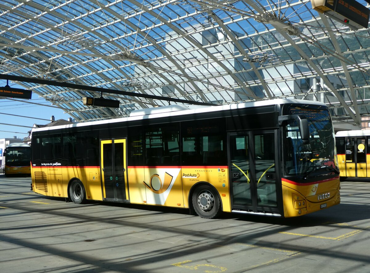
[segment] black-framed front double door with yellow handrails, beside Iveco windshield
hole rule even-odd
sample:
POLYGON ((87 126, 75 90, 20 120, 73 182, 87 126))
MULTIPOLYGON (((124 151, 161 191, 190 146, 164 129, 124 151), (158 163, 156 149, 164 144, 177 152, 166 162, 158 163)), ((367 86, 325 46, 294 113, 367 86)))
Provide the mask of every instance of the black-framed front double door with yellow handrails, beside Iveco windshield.
POLYGON ((275 139, 273 131, 229 134, 233 211, 279 213, 275 139))

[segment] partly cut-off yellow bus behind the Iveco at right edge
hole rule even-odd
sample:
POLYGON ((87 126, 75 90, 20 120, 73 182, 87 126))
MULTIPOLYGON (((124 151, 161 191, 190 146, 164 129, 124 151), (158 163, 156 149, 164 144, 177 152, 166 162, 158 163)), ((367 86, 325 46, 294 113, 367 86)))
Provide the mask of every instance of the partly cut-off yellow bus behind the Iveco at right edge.
POLYGON ((335 141, 340 178, 370 177, 370 130, 340 131, 335 141))

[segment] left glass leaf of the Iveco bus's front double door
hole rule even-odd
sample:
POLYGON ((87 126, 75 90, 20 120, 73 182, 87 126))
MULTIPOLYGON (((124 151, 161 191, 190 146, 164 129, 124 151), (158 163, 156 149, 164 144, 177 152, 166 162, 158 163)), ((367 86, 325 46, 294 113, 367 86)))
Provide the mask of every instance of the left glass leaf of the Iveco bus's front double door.
POLYGON ((230 136, 233 206, 252 206, 248 136, 230 136))

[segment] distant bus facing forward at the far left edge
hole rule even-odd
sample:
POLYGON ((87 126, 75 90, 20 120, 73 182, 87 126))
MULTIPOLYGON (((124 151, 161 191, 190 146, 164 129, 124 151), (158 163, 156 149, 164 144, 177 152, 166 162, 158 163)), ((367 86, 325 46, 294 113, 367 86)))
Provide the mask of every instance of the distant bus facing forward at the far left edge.
POLYGON ((4 175, 31 175, 31 147, 26 143, 11 143, 4 150, 4 175))

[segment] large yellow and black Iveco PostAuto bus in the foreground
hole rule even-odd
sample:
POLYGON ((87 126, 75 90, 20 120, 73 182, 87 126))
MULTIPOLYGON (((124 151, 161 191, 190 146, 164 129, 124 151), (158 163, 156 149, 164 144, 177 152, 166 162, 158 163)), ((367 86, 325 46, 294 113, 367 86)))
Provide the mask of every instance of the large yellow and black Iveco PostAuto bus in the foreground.
POLYGON ((170 105, 32 131, 34 192, 293 217, 340 203, 334 131, 320 102, 170 105))

